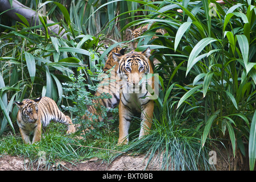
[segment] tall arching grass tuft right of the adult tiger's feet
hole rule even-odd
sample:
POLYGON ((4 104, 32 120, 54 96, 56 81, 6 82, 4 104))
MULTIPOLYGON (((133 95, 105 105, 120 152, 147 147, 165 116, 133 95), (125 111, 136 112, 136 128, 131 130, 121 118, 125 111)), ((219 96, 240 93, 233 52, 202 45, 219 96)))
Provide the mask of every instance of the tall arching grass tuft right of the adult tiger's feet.
MULTIPOLYGON (((165 111, 160 117, 154 118, 150 134, 139 140, 134 138, 122 151, 146 154, 147 165, 162 163, 160 170, 214 169, 214 166, 208 163, 210 140, 207 146, 201 147, 202 131, 195 128, 197 123, 193 123, 189 117, 184 118, 184 110, 166 107, 165 111)), ((133 131, 137 133, 137 137, 138 130, 133 131)))

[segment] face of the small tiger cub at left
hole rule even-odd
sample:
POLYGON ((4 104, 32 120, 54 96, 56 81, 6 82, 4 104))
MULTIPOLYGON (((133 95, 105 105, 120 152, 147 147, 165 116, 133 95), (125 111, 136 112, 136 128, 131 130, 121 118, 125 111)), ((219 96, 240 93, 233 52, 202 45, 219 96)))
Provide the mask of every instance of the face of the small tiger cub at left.
POLYGON ((22 120, 25 123, 35 123, 38 121, 38 102, 41 100, 41 98, 42 97, 36 98, 35 100, 26 99, 22 102, 15 102, 19 108, 20 113, 22 114, 22 120))

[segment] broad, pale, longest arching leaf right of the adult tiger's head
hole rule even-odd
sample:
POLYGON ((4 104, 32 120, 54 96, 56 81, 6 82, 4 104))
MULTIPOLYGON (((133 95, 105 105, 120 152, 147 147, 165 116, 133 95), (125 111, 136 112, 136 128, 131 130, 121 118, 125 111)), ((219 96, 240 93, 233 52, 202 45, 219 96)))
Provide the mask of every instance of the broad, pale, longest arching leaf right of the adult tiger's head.
POLYGON ((199 55, 199 53, 205 48, 205 46, 215 41, 216 39, 213 39, 213 38, 204 38, 200 40, 199 43, 196 44, 196 46, 192 49, 188 58, 188 67, 187 67, 186 76, 188 75, 188 72, 191 70, 193 65, 196 64, 194 60, 196 59, 197 55, 199 55))

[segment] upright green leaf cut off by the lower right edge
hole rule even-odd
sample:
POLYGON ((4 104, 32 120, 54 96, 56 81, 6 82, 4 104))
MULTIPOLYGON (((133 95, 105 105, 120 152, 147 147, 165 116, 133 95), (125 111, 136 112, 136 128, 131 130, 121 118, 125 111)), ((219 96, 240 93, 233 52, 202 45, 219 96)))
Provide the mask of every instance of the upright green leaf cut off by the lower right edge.
POLYGON ((254 170, 256 159, 256 110, 254 111, 253 120, 251 121, 250 137, 249 137, 249 164, 250 170, 254 170))

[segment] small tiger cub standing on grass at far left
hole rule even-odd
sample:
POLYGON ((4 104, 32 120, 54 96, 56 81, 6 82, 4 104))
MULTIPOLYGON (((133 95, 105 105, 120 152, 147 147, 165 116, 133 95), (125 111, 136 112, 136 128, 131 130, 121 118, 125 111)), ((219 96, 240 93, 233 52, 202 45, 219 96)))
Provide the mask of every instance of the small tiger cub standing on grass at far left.
POLYGON ((39 142, 42 136, 42 126, 46 127, 49 122, 56 121, 68 126, 67 134, 75 133, 76 129, 67 115, 61 113, 55 101, 49 97, 39 97, 35 100, 25 99, 16 101, 19 111, 17 122, 22 139, 27 144, 39 142), (34 133, 32 142, 30 133, 34 133))

